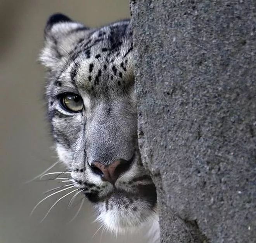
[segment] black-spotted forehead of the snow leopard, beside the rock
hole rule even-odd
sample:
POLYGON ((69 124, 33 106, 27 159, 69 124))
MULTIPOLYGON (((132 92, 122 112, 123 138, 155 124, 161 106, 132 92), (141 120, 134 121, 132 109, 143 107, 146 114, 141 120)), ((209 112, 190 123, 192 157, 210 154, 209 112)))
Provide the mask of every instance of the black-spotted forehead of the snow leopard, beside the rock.
MULTIPOLYGON (((125 26, 122 28, 127 28, 125 26)), ((71 67, 71 80, 78 87, 95 92, 104 88, 106 92, 106 87, 119 87, 124 91, 133 84, 132 42, 119 28, 95 31, 86 42, 78 62, 71 67)))

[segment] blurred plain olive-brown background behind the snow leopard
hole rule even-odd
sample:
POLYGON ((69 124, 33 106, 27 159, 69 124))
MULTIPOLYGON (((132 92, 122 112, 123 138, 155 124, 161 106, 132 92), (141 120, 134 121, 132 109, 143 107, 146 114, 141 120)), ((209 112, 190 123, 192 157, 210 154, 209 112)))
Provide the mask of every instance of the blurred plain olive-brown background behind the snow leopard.
MULTIPOLYGON (((81 197, 71 209, 67 204, 72 196, 62 200, 42 223, 60 194, 29 216, 43 192, 59 185, 25 183, 57 161, 45 118, 44 69, 37 62, 45 22, 54 12, 91 27, 130 16, 129 0, 0 0, 0 243, 147 242, 142 232, 118 238, 102 233, 87 202, 68 223, 81 197)), ((49 172, 63 170, 56 165, 49 172)))

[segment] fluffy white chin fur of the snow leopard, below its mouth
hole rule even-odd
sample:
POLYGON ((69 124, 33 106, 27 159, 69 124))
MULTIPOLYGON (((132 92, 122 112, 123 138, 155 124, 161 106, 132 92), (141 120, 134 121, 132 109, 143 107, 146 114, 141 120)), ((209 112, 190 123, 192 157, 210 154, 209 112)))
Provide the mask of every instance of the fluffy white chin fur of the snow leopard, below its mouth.
POLYGON ((156 220, 156 208, 156 201, 123 191, 114 191, 106 200, 95 205, 99 212, 97 221, 115 234, 134 232, 156 220))

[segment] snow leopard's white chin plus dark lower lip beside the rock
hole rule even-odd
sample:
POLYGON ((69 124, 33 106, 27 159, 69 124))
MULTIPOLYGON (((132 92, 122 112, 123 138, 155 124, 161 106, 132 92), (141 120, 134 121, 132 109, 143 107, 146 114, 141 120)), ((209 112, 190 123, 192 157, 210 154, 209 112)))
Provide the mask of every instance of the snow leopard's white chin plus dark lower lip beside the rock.
POLYGON ((133 190, 135 193, 114 186, 106 196, 97 198, 93 203, 98 213, 96 220, 116 234, 133 232, 146 222, 155 220, 157 195, 154 184, 139 185, 133 190))

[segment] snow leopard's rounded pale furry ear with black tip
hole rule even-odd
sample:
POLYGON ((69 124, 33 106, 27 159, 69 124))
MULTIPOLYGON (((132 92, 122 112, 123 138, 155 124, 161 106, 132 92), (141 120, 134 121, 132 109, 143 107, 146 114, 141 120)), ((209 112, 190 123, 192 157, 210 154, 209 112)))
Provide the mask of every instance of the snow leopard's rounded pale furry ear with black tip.
POLYGON ((45 45, 39 60, 50 70, 57 68, 59 61, 68 56, 77 41, 86 38, 88 30, 64 14, 53 14, 45 26, 45 45))

